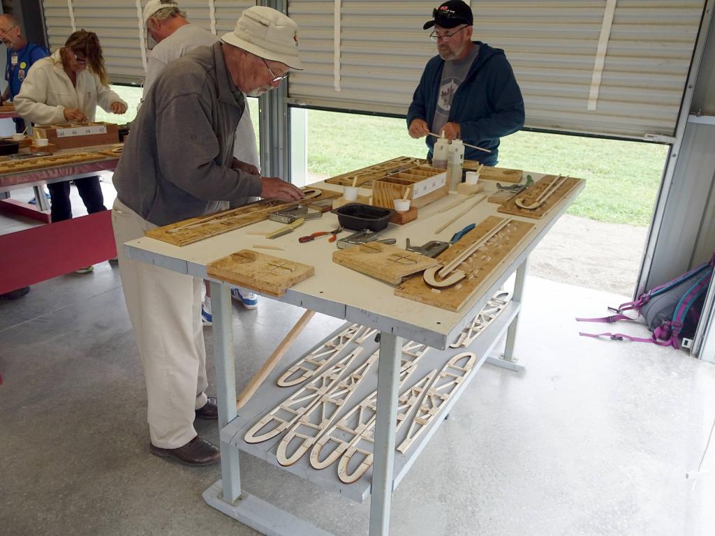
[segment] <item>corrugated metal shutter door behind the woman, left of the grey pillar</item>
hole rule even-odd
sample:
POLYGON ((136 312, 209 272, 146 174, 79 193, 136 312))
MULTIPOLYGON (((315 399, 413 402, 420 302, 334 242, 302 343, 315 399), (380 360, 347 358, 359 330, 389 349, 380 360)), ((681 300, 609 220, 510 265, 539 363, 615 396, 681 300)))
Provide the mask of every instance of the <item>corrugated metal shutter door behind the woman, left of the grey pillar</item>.
MULTIPOLYGON (((241 12, 255 1, 178 0, 192 24, 212 31, 211 5, 214 6, 215 29, 218 35, 234 28, 241 12)), ((64 45, 72 33, 70 6, 75 27, 97 32, 102 43, 104 61, 112 82, 142 83, 144 64, 139 27, 142 18, 135 0, 43 0, 45 24, 52 51, 64 45)), ((146 1, 142 0, 144 9, 146 1)))

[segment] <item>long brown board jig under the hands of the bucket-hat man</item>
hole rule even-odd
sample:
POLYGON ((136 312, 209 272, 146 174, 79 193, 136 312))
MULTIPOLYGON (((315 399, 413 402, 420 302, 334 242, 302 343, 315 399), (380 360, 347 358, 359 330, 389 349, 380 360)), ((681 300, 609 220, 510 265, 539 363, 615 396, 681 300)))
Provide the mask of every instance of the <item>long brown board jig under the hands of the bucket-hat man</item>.
MULTIPOLYGON (((309 192, 315 192, 315 189, 304 188, 303 192, 306 195, 309 192)), ((320 194, 308 199, 306 204, 308 207, 312 203, 322 201, 322 199, 332 199, 340 196, 340 192, 332 190, 319 190, 320 194)), ((237 209, 224 210, 215 214, 207 214, 206 216, 184 219, 182 222, 164 225, 151 229, 145 234, 149 238, 155 238, 162 242, 173 244, 174 246, 186 246, 199 242, 199 240, 215 237, 217 234, 240 229, 247 225, 262 222, 267 219, 268 214, 272 212, 280 212, 288 208, 295 207, 297 203, 284 203, 277 199, 261 199, 255 203, 247 204, 237 209)))

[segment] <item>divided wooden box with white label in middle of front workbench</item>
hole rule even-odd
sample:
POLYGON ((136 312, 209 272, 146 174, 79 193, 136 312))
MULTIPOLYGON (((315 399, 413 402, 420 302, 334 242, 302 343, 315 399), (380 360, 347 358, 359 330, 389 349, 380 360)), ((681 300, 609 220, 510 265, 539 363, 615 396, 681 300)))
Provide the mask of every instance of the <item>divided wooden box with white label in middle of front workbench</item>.
POLYGON ((373 205, 392 209, 393 200, 403 199, 410 190, 407 199, 411 207, 424 207, 449 193, 447 172, 428 166, 413 167, 403 172, 386 175, 373 182, 373 205))

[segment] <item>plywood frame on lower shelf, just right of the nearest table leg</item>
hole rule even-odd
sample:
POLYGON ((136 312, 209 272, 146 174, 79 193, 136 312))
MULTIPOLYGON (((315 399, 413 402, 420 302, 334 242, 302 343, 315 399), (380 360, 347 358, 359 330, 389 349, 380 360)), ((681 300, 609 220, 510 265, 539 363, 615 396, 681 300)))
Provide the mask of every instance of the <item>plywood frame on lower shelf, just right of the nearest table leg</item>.
POLYGON ((455 355, 445 364, 433 383, 430 384, 427 392, 423 394, 417 413, 410 423, 407 437, 400 443, 398 452, 405 454, 409 450, 413 442, 434 420, 435 415, 438 415, 440 409, 455 394, 476 363, 476 354, 463 352, 455 355))

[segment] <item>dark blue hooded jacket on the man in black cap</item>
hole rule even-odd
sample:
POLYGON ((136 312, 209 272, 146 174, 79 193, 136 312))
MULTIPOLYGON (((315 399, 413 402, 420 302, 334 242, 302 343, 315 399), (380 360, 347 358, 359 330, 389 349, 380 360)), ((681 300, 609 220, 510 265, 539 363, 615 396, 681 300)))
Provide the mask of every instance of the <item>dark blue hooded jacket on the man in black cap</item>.
MULTIPOLYGON (((459 123, 460 138, 464 142, 491 151, 485 153, 465 147, 465 159, 494 166, 499 138, 516 132, 524 124, 524 101, 504 51, 480 41, 474 44, 479 47, 479 54, 454 94, 449 121, 459 123)), ((416 118, 432 126, 444 64, 440 56, 427 62, 408 110, 408 128, 416 118)), ((427 137, 430 159, 435 141, 434 137, 427 137)))

